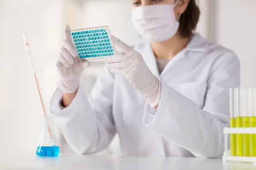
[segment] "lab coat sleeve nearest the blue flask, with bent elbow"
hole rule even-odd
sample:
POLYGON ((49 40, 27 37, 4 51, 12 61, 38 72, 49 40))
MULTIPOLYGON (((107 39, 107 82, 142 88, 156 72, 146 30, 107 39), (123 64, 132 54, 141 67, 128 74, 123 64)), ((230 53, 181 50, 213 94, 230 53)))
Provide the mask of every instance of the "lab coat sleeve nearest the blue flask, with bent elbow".
POLYGON ((52 96, 50 109, 67 144, 76 153, 95 153, 108 147, 116 134, 112 116, 113 74, 105 69, 87 98, 79 85, 69 107, 60 105, 62 93, 52 96))

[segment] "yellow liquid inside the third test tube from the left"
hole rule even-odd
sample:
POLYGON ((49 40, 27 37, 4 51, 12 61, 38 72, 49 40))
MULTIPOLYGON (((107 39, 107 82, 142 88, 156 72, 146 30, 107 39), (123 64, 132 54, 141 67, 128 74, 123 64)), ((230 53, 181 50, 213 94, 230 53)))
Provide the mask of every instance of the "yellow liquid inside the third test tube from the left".
MULTIPOLYGON (((250 127, 250 117, 242 117, 243 127, 250 127)), ((250 134, 243 134, 243 156, 250 156, 250 134)))

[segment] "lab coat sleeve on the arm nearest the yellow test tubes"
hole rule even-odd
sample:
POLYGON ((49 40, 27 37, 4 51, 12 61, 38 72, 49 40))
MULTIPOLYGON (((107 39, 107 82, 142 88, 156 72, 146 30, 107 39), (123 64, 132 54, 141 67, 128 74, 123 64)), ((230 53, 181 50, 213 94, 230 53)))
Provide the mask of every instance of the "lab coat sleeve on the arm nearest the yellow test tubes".
POLYGON ((203 109, 162 83, 157 111, 146 104, 143 124, 196 157, 221 158, 223 128, 229 126, 229 88, 239 87, 239 71, 239 60, 231 52, 215 60, 203 109))

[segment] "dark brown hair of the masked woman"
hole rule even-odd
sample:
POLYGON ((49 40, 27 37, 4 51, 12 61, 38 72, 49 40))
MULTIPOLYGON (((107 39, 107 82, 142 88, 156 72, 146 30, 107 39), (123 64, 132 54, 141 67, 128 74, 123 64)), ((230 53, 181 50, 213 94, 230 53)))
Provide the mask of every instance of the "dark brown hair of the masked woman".
MULTIPOLYGON (((176 0, 177 1, 177 0, 176 0)), ((200 16, 200 10, 195 0, 190 0, 186 11, 180 16, 179 31, 183 38, 191 37, 195 31, 200 16)))

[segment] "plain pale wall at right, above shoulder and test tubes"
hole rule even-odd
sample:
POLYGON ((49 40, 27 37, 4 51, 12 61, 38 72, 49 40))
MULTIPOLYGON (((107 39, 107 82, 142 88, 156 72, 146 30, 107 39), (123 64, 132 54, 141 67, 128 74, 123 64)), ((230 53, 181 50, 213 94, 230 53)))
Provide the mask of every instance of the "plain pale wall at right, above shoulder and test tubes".
POLYGON ((216 42, 241 62, 241 86, 256 86, 256 0, 218 0, 216 42))

